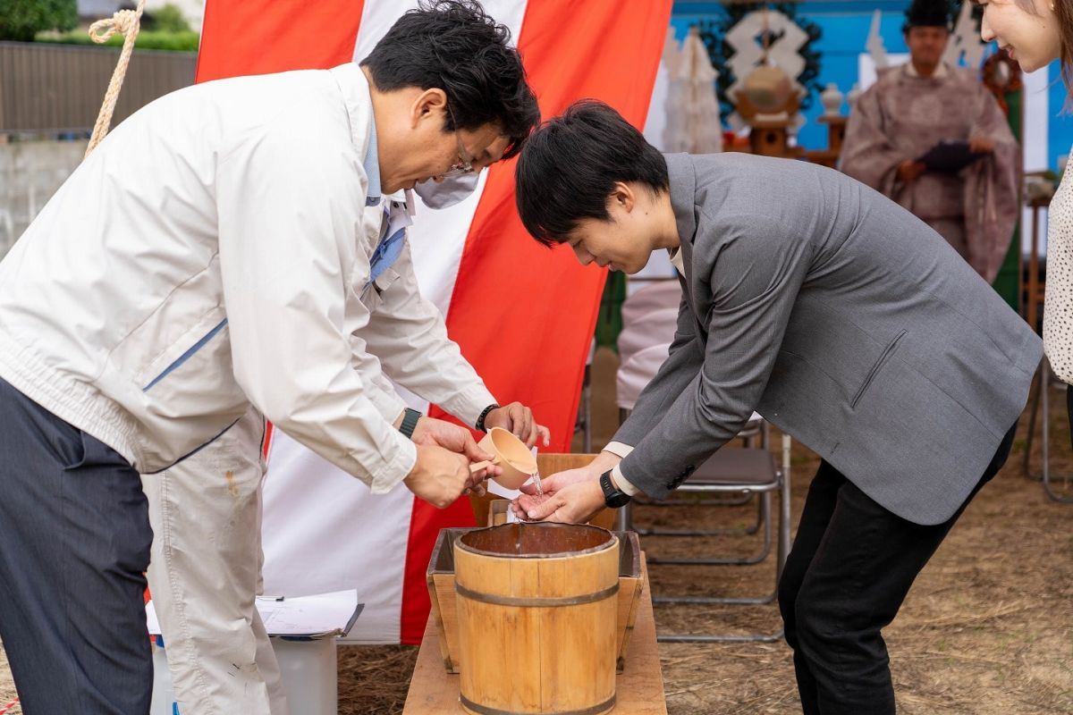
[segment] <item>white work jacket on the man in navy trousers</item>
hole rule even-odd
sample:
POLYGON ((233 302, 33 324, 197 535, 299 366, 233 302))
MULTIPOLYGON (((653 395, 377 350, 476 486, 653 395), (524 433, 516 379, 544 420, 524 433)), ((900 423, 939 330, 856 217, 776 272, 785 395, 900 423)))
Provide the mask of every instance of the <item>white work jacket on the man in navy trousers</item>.
POLYGON ((494 398, 422 299, 409 247, 369 285, 384 218, 370 136, 353 63, 137 111, 0 263, 0 377, 143 473, 252 403, 389 490, 415 449, 381 368, 470 424, 494 398))

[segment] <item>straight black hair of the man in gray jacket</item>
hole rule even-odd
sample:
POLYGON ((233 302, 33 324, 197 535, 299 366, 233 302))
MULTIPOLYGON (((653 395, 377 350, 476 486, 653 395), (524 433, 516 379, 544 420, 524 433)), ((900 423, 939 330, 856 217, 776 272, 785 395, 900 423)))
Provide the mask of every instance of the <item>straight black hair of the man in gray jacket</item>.
POLYGON ((553 247, 582 219, 611 221, 607 198, 617 181, 667 191, 666 160, 615 109, 582 100, 529 137, 514 170, 514 198, 526 230, 553 247))

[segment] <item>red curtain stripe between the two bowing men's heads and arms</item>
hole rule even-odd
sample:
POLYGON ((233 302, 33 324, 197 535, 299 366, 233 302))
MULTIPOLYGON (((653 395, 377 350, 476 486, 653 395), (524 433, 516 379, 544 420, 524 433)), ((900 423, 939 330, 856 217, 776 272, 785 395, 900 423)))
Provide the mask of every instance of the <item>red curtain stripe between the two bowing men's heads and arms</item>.
MULTIPOLYGON (((529 0, 518 49, 543 116, 596 98, 643 126, 670 19, 671 0, 633 3, 629 11, 616 0, 529 0)), ((491 167, 466 239, 447 330, 497 399, 530 405, 550 428, 549 451, 570 451, 604 277, 564 248, 538 244, 514 205, 514 162, 491 167)), ((438 511, 414 501, 403 643, 421 642, 425 630, 425 569, 435 534, 472 521, 469 504, 438 511), (432 535, 425 537, 427 549, 418 548, 421 534, 432 535)))

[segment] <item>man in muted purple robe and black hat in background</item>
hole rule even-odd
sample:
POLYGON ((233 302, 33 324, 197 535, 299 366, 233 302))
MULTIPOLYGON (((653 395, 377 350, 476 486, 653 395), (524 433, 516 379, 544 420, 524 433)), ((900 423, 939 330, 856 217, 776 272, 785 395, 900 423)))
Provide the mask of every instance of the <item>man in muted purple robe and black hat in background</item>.
POLYGON ((942 62, 950 16, 920 0, 908 13, 911 60, 881 70, 851 110, 840 168, 912 211, 994 281, 1017 222, 1020 147, 973 70, 942 62), (974 161, 956 172, 920 162, 947 140, 974 161))

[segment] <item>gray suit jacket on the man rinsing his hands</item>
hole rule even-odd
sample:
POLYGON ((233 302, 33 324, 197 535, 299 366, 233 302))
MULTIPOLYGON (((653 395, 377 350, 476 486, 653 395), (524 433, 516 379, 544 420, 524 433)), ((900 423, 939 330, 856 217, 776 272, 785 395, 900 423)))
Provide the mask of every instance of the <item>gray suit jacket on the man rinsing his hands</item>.
POLYGON ((1020 415, 1043 354, 931 228, 805 162, 667 155, 686 277, 671 355, 615 440, 664 497, 753 409, 871 498, 949 519, 1020 415))

